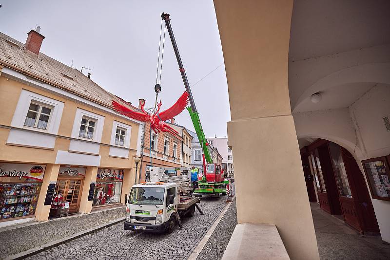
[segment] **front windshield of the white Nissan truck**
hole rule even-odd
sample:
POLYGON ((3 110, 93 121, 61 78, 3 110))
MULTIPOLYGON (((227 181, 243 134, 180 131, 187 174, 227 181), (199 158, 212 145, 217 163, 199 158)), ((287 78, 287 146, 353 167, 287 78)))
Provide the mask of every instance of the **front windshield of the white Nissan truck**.
POLYGON ((165 188, 134 187, 131 189, 129 203, 138 205, 162 205, 165 188))

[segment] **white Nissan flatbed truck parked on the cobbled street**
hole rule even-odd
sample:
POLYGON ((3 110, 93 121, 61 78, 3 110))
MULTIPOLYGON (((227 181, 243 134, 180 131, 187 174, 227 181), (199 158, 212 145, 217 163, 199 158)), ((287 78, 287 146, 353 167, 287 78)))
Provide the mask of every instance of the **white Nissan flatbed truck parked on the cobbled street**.
MULTIPOLYGON (((132 187, 130 196, 126 198, 125 230, 146 232, 173 232, 176 224, 181 226, 180 217, 194 216, 199 198, 183 195, 181 186, 189 185, 188 174, 168 176, 167 170, 185 168, 150 168, 150 182, 132 187)), ((188 172, 188 171, 187 171, 188 172)))

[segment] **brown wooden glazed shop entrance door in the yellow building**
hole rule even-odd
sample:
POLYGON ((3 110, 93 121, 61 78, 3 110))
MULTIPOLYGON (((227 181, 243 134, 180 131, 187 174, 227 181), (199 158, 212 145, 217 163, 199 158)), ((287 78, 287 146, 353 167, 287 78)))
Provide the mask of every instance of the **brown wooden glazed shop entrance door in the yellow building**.
POLYGON ((63 195, 63 201, 69 202, 69 213, 78 212, 81 198, 82 179, 59 179, 56 184, 56 194, 63 195))

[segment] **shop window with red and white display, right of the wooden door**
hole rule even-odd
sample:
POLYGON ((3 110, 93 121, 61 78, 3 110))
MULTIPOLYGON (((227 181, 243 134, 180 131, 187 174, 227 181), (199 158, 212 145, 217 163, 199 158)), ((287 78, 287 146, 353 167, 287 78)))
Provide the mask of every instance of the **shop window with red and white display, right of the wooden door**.
POLYGON ((123 169, 98 168, 94 206, 120 203, 123 173, 123 169))

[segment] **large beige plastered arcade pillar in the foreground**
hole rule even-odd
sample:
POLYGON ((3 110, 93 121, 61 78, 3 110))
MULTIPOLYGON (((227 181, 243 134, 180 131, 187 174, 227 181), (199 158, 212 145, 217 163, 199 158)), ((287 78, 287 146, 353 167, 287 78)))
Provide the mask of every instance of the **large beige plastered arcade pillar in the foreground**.
POLYGON ((214 3, 238 223, 275 224, 292 260, 319 259, 288 89, 293 0, 214 3))

